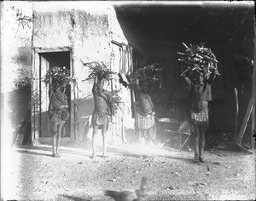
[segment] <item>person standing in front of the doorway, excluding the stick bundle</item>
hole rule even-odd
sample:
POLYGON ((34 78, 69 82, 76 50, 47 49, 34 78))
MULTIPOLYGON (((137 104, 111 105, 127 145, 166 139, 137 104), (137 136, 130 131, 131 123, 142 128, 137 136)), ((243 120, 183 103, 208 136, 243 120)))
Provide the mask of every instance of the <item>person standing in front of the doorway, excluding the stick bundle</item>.
POLYGON ((61 92, 62 89, 61 85, 55 83, 49 93, 49 130, 52 134, 52 157, 54 158, 60 157, 61 131, 63 124, 70 116, 67 111, 67 95, 61 92))

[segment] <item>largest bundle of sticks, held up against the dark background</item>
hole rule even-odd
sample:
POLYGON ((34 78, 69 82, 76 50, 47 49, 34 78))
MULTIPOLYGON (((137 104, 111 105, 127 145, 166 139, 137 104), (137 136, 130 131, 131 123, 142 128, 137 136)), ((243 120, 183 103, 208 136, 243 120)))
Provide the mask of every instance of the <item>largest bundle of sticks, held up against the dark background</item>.
POLYGON ((186 73, 189 74, 189 77, 195 78, 202 72, 204 77, 207 78, 213 71, 216 72, 216 75, 220 75, 218 73, 218 60, 216 60, 212 50, 204 46, 204 43, 199 45, 190 44, 189 47, 183 43, 183 46, 185 47, 185 53, 177 52, 180 56, 178 60, 183 62, 185 67, 182 76, 186 73))

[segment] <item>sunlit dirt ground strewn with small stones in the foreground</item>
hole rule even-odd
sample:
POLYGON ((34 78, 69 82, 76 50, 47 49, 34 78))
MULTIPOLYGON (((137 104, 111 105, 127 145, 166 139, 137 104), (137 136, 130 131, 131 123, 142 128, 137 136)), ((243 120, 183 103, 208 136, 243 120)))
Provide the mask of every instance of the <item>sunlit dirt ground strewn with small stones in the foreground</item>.
POLYGON ((61 158, 50 144, 5 148, 2 198, 16 200, 112 200, 104 190, 136 189, 149 179, 147 200, 254 200, 253 154, 208 150, 204 164, 193 152, 169 147, 108 146, 108 158, 91 159, 91 144, 61 142, 61 158), (218 153, 218 155, 216 154, 218 153))

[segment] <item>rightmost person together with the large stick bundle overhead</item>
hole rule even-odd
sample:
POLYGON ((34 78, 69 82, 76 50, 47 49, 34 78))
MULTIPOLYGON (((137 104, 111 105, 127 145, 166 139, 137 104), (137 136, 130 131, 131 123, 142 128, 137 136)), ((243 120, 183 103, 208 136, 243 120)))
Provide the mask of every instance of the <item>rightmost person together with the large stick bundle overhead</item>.
POLYGON ((211 49, 200 45, 191 45, 186 53, 179 53, 186 67, 182 77, 189 85, 190 128, 194 135, 194 162, 204 163, 205 135, 209 127, 208 101, 212 100, 211 85, 218 74, 215 55, 211 49))

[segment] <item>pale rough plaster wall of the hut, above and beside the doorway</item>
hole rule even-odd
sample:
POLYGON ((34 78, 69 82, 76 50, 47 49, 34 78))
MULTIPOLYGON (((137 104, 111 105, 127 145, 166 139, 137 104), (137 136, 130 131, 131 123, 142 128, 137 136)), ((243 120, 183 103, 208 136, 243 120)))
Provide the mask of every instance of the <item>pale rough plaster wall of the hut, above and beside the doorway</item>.
MULTIPOLYGON (((50 6, 47 5, 47 8, 50 6)), ((111 5, 102 3, 64 3, 58 9, 45 9, 44 3, 35 6, 33 47, 39 49, 70 48, 71 69, 76 79, 76 99, 79 100, 78 122, 82 125, 83 116, 93 112, 93 98, 91 89, 92 80, 84 80, 89 75, 89 68, 83 62, 104 62, 109 68, 113 66, 113 43, 127 41, 116 19, 115 11, 111 5)), ((128 66, 127 66, 128 67, 128 66)), ((118 82, 117 80, 113 82, 118 82)), ((111 90, 111 83, 105 84, 105 89, 111 90)), ((125 108, 131 107, 129 89, 119 86, 125 98, 125 108)), ((126 109, 127 110, 127 109, 126 109)), ((131 122, 131 110, 125 110, 125 122, 131 122)), ((120 113, 120 112, 119 112, 120 113)), ((79 129, 82 132, 83 128, 79 129)))

